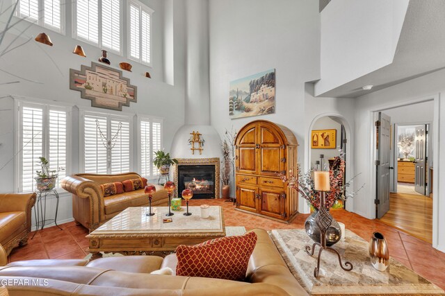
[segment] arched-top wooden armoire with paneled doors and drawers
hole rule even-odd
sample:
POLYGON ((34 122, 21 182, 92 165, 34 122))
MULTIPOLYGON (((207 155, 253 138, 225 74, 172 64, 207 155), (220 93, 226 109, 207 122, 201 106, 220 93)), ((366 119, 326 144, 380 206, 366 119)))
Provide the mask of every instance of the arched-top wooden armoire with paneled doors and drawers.
POLYGON ((244 125, 235 139, 236 209, 290 223, 298 212, 298 193, 282 182, 297 168, 293 132, 270 121, 244 125))

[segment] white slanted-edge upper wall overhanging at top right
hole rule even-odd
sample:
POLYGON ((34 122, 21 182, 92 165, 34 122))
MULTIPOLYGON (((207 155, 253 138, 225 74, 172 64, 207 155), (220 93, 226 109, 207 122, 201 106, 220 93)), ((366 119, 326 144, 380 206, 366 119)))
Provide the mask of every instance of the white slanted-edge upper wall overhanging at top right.
POLYGON ((325 7, 316 96, 391 64, 408 3, 336 0, 325 7))

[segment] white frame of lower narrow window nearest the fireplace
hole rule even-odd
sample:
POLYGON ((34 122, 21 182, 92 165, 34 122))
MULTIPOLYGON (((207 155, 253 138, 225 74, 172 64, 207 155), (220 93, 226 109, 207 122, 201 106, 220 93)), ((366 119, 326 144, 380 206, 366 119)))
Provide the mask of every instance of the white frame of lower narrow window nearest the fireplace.
MULTIPOLYGON (((138 145, 138 147, 136 149, 137 156, 138 156, 138 166, 137 166, 137 168, 138 168, 138 172, 140 172, 141 175, 142 175, 142 147, 141 147, 142 139, 140 137, 140 132, 141 132, 140 122, 141 121, 149 121, 149 123, 150 123, 150 135, 149 135, 150 136, 150 148, 149 148, 150 153, 149 153, 149 155, 150 155, 150 157, 152 157, 152 155, 154 153, 154 151, 153 151, 153 123, 160 123, 161 124, 161 136, 160 136, 161 137, 161 141, 160 141, 160 143, 161 143, 161 149, 163 149, 164 119, 162 117, 148 116, 148 115, 143 115, 143 114, 136 114, 136 118, 137 118, 137 121, 138 121, 138 123, 137 123, 137 126, 138 126, 138 129, 137 129, 137 132, 138 132, 137 145, 138 145)), ((150 168, 149 169, 149 171, 150 171, 149 175, 143 175, 143 177, 145 177, 145 178, 147 178, 149 180, 149 179, 152 179, 154 177, 158 177, 159 176, 159 173, 154 173, 153 172, 153 159, 151 159, 149 168, 150 168)))

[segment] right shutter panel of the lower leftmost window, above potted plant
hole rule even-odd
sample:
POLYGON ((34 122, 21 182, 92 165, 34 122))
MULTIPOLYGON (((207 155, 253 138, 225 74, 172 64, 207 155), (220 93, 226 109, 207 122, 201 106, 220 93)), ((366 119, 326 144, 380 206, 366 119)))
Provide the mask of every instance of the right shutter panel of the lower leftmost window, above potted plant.
POLYGON ((57 187, 66 177, 67 166, 67 112, 49 110, 49 169, 58 175, 57 187))

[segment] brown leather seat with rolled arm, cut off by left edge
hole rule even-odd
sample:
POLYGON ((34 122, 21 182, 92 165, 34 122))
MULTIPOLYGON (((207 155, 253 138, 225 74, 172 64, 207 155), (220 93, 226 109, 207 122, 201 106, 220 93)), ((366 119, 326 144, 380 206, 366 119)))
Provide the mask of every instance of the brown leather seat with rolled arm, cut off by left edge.
POLYGON ((0 244, 6 254, 28 242, 35 198, 35 193, 0 194, 0 244))

